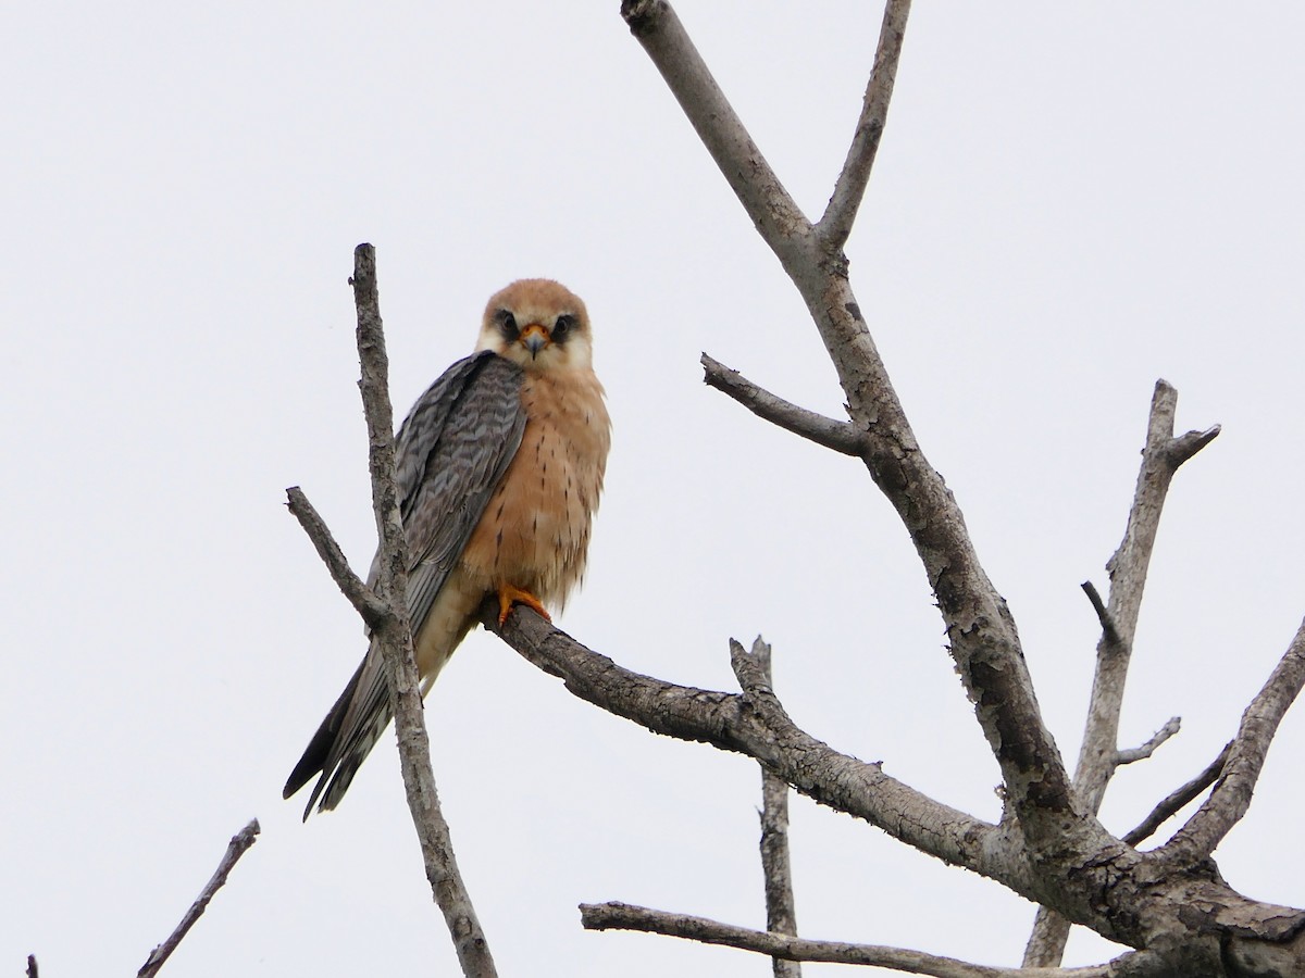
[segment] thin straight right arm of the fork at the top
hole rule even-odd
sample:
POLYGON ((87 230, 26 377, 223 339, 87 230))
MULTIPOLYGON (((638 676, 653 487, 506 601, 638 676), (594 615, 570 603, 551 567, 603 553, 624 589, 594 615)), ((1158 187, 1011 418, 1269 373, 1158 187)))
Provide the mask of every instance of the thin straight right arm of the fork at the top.
POLYGON ((865 186, 870 180, 874 155, 878 153, 880 137, 887 120, 889 102, 893 99, 898 59, 902 56, 902 38, 906 35, 906 18, 910 13, 911 0, 889 0, 883 8, 880 44, 874 52, 870 80, 865 86, 861 117, 856 120, 856 134, 847 150, 843 171, 834 184, 834 194, 825 207, 825 215, 816 226, 816 233, 831 250, 838 250, 847 243, 856 213, 865 197, 865 186))

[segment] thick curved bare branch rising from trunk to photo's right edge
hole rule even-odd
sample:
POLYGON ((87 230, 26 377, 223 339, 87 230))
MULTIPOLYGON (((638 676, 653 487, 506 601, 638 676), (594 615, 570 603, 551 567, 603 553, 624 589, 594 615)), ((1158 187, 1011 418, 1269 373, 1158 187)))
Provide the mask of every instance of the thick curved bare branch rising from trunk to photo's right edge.
POLYGON ((1168 863, 1191 866, 1215 850, 1250 808, 1250 795, 1265 765, 1265 755, 1301 686, 1305 686, 1305 622, 1296 630, 1268 682, 1241 715, 1237 737, 1210 797, 1173 838, 1151 855, 1168 863))

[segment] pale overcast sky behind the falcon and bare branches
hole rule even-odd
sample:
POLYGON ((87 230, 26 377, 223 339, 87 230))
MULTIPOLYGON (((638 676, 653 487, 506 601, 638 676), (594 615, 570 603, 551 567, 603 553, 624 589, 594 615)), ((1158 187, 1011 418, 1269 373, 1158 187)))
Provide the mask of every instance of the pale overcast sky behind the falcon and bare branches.
MULTIPOLYGON (((818 214, 876 4, 680 13, 818 214)), ((1224 425, 1173 485, 1120 773, 1131 828, 1232 735, 1305 612, 1305 8, 917 4, 848 245, 917 436, 1010 602, 1062 754, 1152 385, 1224 425)), ((774 643, 814 735, 996 818, 998 772, 904 531, 857 463, 701 383, 707 351, 838 415, 796 292, 617 3, 16 4, 0 40, 8 605, 0 970, 130 974, 251 818, 262 836, 172 978, 454 974, 378 748, 299 823, 281 785, 363 652, 283 507, 375 545, 352 249, 377 246, 399 413, 506 282, 583 296, 615 447, 560 623, 630 668, 733 689, 774 643)), ((763 926, 756 767, 656 738, 472 636, 428 699, 436 777, 504 975, 762 975, 586 934, 620 898, 763 926)), ((1229 882, 1305 904, 1305 725, 1288 716, 1229 882)), ((1017 964, 1032 908, 793 802, 804 935, 1017 964)), ((1172 825, 1169 827, 1172 831, 1172 825)), ((1077 932, 1069 962, 1109 948, 1077 932)), ((831 966, 806 966, 812 975, 831 966)))

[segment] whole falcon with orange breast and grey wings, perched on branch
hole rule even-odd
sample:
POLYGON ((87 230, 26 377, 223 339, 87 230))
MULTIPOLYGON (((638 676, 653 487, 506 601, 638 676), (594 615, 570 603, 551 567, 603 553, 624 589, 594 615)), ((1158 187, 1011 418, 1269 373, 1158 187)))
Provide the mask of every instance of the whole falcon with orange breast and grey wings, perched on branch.
MULTIPOLYGON (((408 546, 407 601, 425 695, 476 609, 499 599, 543 614, 585 572, 611 421, 591 366, 585 304, 549 279, 513 282, 489 300, 476 352, 412 406, 395 443, 408 546)), ((373 561, 371 580, 377 566, 373 561)), ((373 640, 286 782, 318 772, 304 819, 334 808, 390 721, 373 640)))

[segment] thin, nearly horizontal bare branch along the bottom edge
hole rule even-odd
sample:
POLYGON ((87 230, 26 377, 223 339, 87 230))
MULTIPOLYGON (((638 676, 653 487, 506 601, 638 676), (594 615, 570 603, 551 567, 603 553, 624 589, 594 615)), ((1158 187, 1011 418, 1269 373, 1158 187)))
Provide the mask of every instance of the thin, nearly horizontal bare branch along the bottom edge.
POLYGON ((1146 961, 1141 955, 1125 955, 1114 962, 1094 968, 988 968, 958 961, 953 957, 925 955, 920 951, 881 947, 877 944, 848 944, 838 940, 803 940, 787 934, 767 934, 746 927, 719 923, 705 917, 673 914, 629 904, 581 904, 581 923, 586 930, 626 930, 663 934, 703 944, 722 944, 753 951, 758 955, 790 961, 821 961, 839 965, 887 968, 894 971, 928 974, 934 978, 1116 978, 1142 975, 1146 961), (1125 968, 1128 962, 1128 968, 1125 968))

